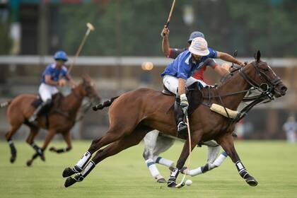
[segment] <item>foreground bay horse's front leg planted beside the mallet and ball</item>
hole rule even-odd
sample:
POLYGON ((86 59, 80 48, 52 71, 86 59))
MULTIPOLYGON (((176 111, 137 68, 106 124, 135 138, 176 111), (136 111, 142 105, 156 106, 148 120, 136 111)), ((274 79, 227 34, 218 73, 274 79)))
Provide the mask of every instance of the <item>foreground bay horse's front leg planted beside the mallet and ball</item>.
MULTIPOLYGON (((191 151, 195 148, 195 146, 197 146, 200 139, 201 139, 200 132, 196 131, 191 134, 191 151)), ((176 168, 173 169, 167 181, 168 187, 175 187, 177 185, 175 181, 176 181, 177 175, 180 173, 180 170, 185 165, 185 162, 187 161, 187 158, 190 154, 189 147, 190 147, 189 139, 187 139, 187 141, 185 141, 184 147, 182 148, 182 153, 180 153, 180 158, 178 158, 176 168)))

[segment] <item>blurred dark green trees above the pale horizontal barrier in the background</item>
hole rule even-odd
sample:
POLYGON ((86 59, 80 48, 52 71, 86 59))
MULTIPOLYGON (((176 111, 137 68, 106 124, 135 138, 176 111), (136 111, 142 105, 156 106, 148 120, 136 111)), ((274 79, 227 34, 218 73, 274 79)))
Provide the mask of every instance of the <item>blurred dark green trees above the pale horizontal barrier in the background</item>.
MULTIPOLYGON (((82 55, 161 56, 161 30, 171 0, 96 0, 96 4, 48 4, 49 54, 63 49, 75 54, 86 23, 96 30, 89 35, 82 55), (54 39, 53 39, 54 37, 54 39)), ((209 47, 240 57, 261 50, 265 57, 296 57, 297 1, 294 0, 177 0, 170 21, 170 45, 186 47, 194 30, 206 35, 209 47), (194 22, 184 21, 191 6, 194 22)), ((6 41, 0 25, 1 47, 6 41)), ((7 47, 2 47, 7 49, 7 47)), ((0 48, 1 50, 1 48, 0 48)))

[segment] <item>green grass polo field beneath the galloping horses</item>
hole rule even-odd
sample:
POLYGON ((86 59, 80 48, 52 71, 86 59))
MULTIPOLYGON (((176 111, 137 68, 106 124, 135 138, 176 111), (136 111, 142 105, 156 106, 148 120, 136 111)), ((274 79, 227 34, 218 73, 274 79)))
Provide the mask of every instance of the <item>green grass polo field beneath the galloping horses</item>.
MULTIPOLYGON (((257 187, 246 184, 227 158, 220 168, 190 177, 192 186, 170 189, 153 180, 142 158, 144 146, 139 144, 107 158, 83 182, 65 188, 62 171, 72 167, 90 143, 74 141, 72 151, 59 155, 47 151, 45 163, 38 158, 28 168, 25 162, 32 156, 32 148, 16 141, 18 158, 11 164, 8 144, 0 141, 0 197, 297 197, 297 144, 284 141, 235 143, 243 164, 259 182, 257 187)), ((64 147, 64 143, 57 141, 50 146, 64 147)), ((178 142, 163 157, 176 161, 181 148, 178 142)), ((205 162, 206 147, 195 148, 191 167, 205 162)), ((169 170, 158 167, 168 178, 169 170)))

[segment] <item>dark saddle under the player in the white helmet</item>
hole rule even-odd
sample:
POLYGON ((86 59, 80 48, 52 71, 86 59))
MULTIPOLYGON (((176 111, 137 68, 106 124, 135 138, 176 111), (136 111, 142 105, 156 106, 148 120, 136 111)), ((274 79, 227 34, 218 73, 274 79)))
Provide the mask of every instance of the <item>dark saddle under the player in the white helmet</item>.
MULTIPOLYGON (((164 95, 175 96, 175 94, 169 91, 168 88, 166 88, 164 85, 163 85, 162 93, 164 95)), ((196 110, 199 107, 199 105, 201 105, 203 102, 203 95, 202 95, 202 92, 200 91, 199 82, 192 83, 191 86, 187 87, 186 95, 187 95, 187 100, 189 102, 189 109, 187 110, 187 113, 188 115, 192 115, 194 110, 196 110)), ((171 109, 174 109, 174 103, 169 110, 171 109)))

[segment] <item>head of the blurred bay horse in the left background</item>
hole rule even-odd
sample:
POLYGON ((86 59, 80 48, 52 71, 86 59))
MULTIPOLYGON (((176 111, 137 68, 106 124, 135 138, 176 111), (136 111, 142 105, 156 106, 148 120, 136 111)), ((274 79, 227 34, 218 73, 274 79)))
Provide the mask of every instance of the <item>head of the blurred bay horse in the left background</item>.
POLYGON ((78 89, 83 97, 92 98, 100 101, 97 91, 95 91, 94 83, 91 83, 91 78, 88 75, 82 77, 83 81, 78 85, 78 89))

